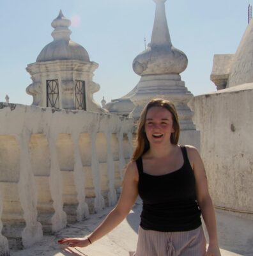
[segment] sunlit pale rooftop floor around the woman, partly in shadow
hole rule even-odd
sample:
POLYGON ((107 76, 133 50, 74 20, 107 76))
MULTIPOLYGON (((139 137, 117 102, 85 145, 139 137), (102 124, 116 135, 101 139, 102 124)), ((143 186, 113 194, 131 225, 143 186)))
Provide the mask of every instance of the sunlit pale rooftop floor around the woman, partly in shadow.
MULTIPOLYGON (((112 209, 107 207, 81 223, 68 225, 55 236, 44 236, 40 243, 26 250, 13 252, 11 256, 129 256, 137 244, 137 230, 141 201, 137 200, 127 218, 111 233, 86 248, 60 248, 57 240, 61 237, 82 237, 89 234, 112 209)), ((222 256, 253 255, 253 221, 245 220, 216 211, 218 237, 222 256)))

